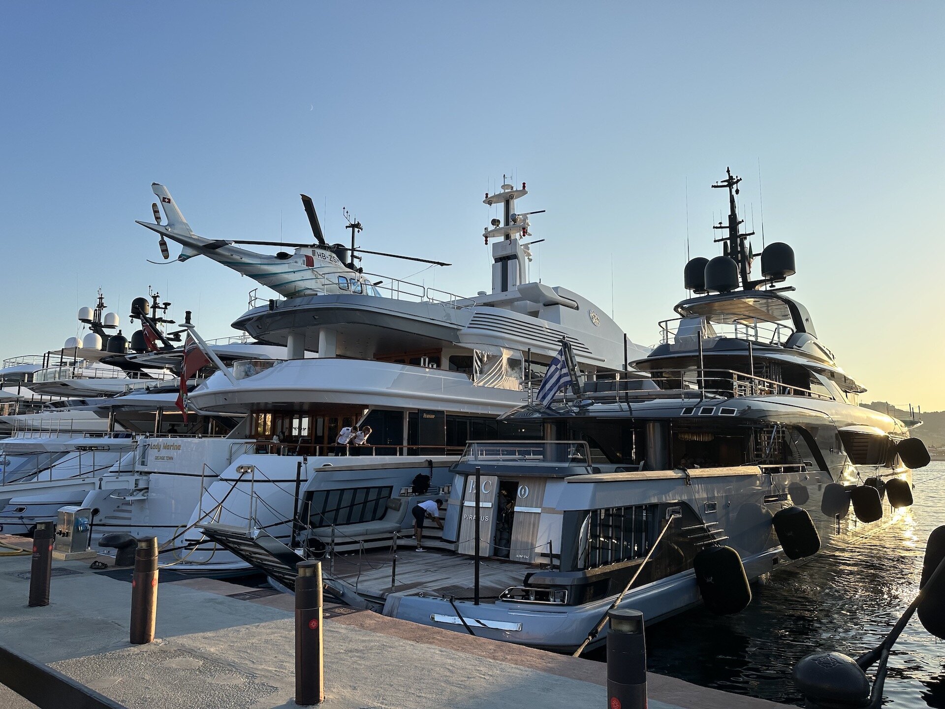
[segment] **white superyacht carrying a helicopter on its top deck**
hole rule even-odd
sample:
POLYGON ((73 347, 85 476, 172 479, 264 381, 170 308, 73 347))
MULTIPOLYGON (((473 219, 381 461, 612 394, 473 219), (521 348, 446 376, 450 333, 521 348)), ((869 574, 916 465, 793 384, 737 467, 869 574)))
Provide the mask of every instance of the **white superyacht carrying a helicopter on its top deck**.
MULTIPOLYGON (((482 233, 492 242, 491 292, 472 298, 365 272, 359 252, 376 252, 356 245, 360 223, 349 222, 350 247, 329 244, 304 196, 316 242, 266 256, 233 244, 271 242, 197 236, 166 188, 153 190, 166 223, 142 223, 179 241, 179 260, 206 255, 285 297, 250 309, 233 326, 284 345, 286 358, 236 362, 188 395, 202 413, 248 414, 243 434, 254 445, 220 472, 194 510, 194 528, 181 535, 187 548, 177 552, 180 571, 247 566, 208 543, 198 525, 263 529, 289 543, 303 486, 335 491, 307 503, 311 518, 370 523, 385 514, 382 497, 409 490, 418 476, 446 494, 449 468, 467 441, 540 437, 537 422, 499 417, 524 404, 528 383, 541 379, 562 339, 592 378, 623 372, 629 357, 647 352, 579 294, 529 280, 534 213, 516 208, 528 194, 524 183, 504 184, 484 199, 501 217, 482 233), (339 432, 354 425, 370 428, 366 444, 336 445, 339 432), (350 494, 336 493, 342 488, 350 494)), ((157 202, 152 207, 160 216, 157 202)))

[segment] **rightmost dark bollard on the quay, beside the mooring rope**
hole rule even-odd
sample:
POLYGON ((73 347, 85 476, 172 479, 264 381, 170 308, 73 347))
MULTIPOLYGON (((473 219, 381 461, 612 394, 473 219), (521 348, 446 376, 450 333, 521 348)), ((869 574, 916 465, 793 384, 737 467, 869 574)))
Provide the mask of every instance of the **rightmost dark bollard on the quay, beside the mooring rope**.
POLYGON ((608 617, 607 705, 609 709, 646 709, 644 614, 614 610, 608 617))

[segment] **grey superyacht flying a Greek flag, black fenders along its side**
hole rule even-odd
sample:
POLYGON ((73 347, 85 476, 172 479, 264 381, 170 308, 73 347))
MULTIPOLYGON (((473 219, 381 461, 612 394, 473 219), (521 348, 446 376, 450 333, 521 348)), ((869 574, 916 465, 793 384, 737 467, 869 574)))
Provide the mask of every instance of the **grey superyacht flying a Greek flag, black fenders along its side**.
MULTIPOLYGON (((858 406, 865 389, 780 285, 795 272, 790 247, 769 244, 752 278, 738 183, 728 173, 713 185, 729 192, 728 224, 716 227, 724 253, 686 265, 693 296, 634 362, 643 378, 581 381, 570 371, 555 400, 533 398, 504 418, 541 426, 542 441, 467 442, 451 468, 443 531, 433 530, 425 553, 389 524, 391 510, 417 498, 387 493, 385 516, 347 530, 387 537, 387 548, 335 555, 328 546, 335 597, 579 652, 604 642, 610 608, 639 609, 648 622, 700 603, 737 613, 750 581, 902 515, 911 469, 928 452, 899 420, 858 406)), ((302 509, 323 496, 303 488, 302 509)), ((297 552, 265 532, 207 533, 291 588, 295 562, 325 553, 320 519, 302 521, 297 552)))

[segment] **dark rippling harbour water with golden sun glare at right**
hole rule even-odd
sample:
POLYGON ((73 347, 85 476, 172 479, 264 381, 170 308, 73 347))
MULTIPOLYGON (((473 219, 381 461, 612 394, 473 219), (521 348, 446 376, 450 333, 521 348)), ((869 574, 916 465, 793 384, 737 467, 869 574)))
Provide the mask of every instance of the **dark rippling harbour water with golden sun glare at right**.
MULTIPOLYGON (((894 524, 827 549, 753 588, 738 615, 702 609, 647 631, 649 669, 688 682, 800 705, 791 669, 816 649, 855 657, 875 646, 919 591, 922 555, 945 518, 945 463, 915 474, 915 505, 894 524), (923 486, 923 480, 930 480, 923 486)), ((887 706, 945 709, 943 647, 913 618, 889 660, 887 706)))

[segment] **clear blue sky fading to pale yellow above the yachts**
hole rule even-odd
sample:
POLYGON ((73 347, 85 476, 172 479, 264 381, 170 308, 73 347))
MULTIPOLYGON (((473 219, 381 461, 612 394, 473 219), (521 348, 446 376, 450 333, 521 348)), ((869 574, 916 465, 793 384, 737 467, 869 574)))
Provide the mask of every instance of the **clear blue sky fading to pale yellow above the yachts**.
POLYGON ((154 285, 227 334, 253 284, 146 263, 151 182, 211 237, 307 238, 306 192, 331 236, 348 207, 365 248, 450 261, 416 280, 469 294, 503 173, 548 210, 533 276, 610 311, 612 263, 652 343, 687 226, 717 252, 731 165, 758 232, 760 171, 766 240, 867 398, 945 408, 943 30, 940 2, 5 0, 0 356, 59 347, 98 287, 125 324, 154 285))

